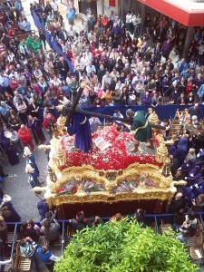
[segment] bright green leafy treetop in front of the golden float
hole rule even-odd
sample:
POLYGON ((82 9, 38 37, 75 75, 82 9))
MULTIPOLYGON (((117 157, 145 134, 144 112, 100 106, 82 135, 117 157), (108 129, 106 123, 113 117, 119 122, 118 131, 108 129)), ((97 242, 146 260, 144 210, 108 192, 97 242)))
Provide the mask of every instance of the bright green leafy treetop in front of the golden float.
POLYGON ((198 267, 176 238, 155 234, 134 219, 124 219, 78 232, 54 271, 194 272, 198 267))

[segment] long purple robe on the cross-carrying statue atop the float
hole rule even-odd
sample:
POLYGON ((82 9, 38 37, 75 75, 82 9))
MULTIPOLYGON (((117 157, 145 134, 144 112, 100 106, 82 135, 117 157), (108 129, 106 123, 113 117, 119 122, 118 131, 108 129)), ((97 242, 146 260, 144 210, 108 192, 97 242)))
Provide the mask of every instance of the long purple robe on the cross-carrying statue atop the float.
POLYGON ((85 153, 92 150, 92 132, 90 123, 83 114, 73 114, 73 126, 68 127, 67 131, 71 136, 75 134, 74 144, 76 148, 85 153))

